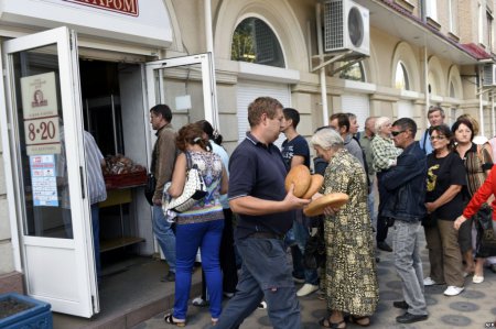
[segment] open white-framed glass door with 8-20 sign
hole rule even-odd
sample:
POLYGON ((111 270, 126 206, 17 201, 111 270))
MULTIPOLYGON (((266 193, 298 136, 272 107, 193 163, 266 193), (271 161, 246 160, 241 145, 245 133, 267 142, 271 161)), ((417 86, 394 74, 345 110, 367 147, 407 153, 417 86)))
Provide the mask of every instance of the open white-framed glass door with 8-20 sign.
POLYGON ((2 44, 1 120, 28 294, 82 317, 99 311, 83 149, 76 34, 58 28, 2 44))

